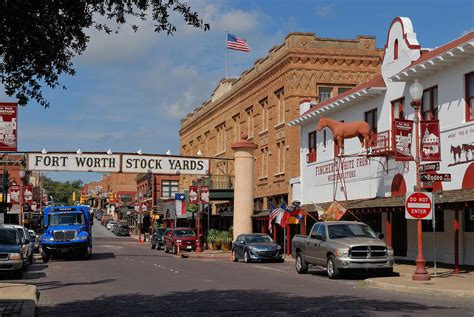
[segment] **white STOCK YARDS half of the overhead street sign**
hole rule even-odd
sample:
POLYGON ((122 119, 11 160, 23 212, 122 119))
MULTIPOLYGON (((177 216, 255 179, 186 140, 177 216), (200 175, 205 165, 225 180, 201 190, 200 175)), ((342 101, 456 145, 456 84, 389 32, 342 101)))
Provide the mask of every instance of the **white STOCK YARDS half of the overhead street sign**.
POLYGON ((122 173, 151 171, 153 174, 205 175, 208 170, 208 159, 128 154, 122 156, 122 173))

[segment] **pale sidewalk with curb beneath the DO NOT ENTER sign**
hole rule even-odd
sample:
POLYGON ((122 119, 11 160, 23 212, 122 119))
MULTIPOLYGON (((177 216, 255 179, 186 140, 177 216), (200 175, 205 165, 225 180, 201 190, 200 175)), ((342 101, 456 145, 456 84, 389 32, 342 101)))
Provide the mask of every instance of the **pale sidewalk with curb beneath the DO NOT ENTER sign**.
POLYGON ((405 293, 423 293, 438 296, 457 296, 474 299, 474 271, 461 269, 459 274, 454 274, 452 268, 427 267, 431 277, 429 281, 413 281, 415 265, 395 264, 394 273, 399 276, 375 277, 364 281, 368 287, 376 287, 405 293))

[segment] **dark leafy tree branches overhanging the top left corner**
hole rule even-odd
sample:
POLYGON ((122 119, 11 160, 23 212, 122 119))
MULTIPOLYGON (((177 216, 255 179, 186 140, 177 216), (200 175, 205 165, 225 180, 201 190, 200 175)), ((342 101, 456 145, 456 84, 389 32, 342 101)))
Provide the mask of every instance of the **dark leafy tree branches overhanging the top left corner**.
POLYGON ((155 32, 172 35, 176 26, 169 22, 170 12, 180 14, 188 25, 209 30, 209 24, 179 0, 0 1, 0 82, 18 104, 27 105, 33 99, 47 108, 50 104, 43 97, 43 86, 54 89, 62 86, 60 75, 75 75, 72 59, 86 50, 90 39, 85 30, 113 31, 98 18, 137 31, 138 26, 130 25, 128 19, 146 20, 150 15, 155 32))

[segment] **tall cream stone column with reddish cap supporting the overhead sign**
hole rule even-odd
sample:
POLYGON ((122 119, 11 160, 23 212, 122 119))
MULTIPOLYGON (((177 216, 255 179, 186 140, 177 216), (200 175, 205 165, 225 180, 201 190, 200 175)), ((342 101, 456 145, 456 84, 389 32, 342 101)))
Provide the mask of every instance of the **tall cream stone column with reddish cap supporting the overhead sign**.
POLYGON ((242 233, 252 233, 253 214, 253 167, 257 145, 247 140, 242 133, 241 140, 232 144, 234 150, 234 240, 242 233))

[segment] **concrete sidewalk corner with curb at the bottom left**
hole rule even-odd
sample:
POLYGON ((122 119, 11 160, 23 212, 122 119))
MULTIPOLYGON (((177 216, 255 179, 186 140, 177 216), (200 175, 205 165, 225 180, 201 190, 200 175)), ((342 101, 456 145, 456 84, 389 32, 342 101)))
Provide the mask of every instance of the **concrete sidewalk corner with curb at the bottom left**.
POLYGON ((0 316, 35 316, 38 299, 34 285, 0 283, 0 316))

